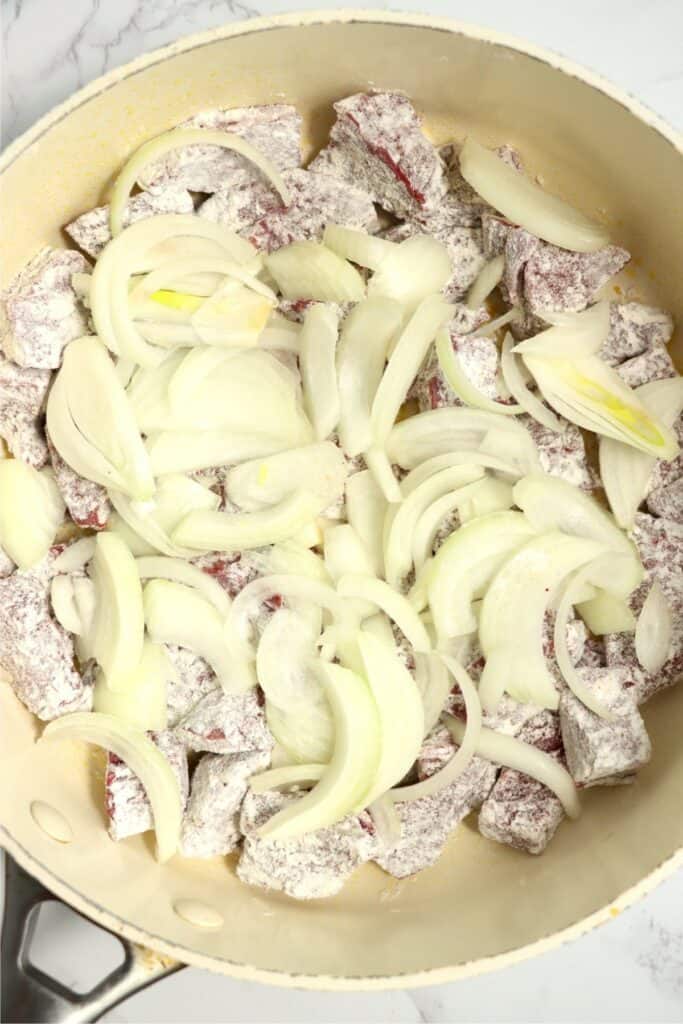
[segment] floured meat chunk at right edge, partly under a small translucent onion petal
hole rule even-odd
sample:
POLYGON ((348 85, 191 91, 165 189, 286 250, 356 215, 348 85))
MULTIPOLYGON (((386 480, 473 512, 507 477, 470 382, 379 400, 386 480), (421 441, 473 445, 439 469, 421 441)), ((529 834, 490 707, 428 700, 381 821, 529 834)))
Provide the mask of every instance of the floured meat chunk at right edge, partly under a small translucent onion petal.
POLYGON ((631 608, 638 616, 656 580, 674 621, 670 656, 654 675, 639 667, 633 634, 611 633, 605 637, 607 665, 626 666, 634 674, 636 699, 643 703, 659 690, 673 686, 683 675, 683 526, 639 512, 632 537, 645 567, 645 579, 631 595, 631 608))

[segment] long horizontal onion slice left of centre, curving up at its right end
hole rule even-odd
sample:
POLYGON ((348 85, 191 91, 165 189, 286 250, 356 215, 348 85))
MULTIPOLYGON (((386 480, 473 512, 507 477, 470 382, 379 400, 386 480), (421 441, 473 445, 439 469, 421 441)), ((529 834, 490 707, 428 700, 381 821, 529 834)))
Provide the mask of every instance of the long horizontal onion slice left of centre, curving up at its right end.
POLYGON ((318 498, 295 490, 257 512, 189 512, 171 540, 191 551, 247 551, 290 540, 322 511, 318 498))

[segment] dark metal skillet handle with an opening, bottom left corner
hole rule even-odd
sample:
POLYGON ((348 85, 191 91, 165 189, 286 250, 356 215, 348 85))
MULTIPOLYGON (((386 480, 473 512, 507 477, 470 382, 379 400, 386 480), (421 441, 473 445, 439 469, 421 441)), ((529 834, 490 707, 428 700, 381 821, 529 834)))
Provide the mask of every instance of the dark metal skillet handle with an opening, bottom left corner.
POLYGON ((98 1021, 129 995, 184 967, 115 935, 124 948, 123 964, 89 992, 74 992, 39 971, 29 959, 36 924, 36 915, 31 911, 48 900, 55 901, 57 897, 5 853, 5 906, 0 937, 0 1020, 5 1024, 98 1021))

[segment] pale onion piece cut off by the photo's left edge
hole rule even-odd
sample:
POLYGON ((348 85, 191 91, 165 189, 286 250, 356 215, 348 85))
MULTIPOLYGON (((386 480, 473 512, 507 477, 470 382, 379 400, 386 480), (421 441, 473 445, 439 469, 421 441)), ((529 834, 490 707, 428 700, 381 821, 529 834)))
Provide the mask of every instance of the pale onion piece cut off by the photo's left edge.
POLYGON ((0 544, 20 569, 42 561, 65 517, 51 469, 0 461, 0 544))

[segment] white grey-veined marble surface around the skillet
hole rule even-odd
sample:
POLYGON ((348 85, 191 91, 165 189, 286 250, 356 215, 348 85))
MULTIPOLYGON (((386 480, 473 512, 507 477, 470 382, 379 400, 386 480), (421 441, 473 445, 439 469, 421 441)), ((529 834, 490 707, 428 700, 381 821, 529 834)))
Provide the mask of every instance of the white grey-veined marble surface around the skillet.
MULTIPOLYGON (((1 0, 2 142, 109 69, 185 34, 288 0, 1 0), (255 3, 257 6, 253 6, 255 3)), ((301 0, 299 7, 333 6, 301 0)), ((347 3, 346 6, 364 6, 347 3)), ((377 7, 415 9, 417 0, 377 7)), ((429 0, 423 9, 526 37, 599 71, 683 128, 683 0, 429 0)), ((683 874, 607 927, 496 975, 415 992, 282 992, 186 970, 106 1021, 681 1021, 683 874)), ((92 983, 106 940, 50 912, 42 963, 92 983), (55 937, 58 935, 58 942, 55 937)), ((86 984, 87 987, 87 984, 86 984)))

